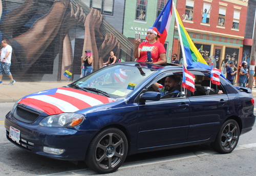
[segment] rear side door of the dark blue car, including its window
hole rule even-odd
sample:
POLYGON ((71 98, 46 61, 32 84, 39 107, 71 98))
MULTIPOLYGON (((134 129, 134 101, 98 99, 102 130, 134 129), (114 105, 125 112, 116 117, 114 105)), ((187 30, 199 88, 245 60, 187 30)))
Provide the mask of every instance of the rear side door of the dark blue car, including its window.
POLYGON ((207 140, 212 134, 217 133, 229 106, 228 96, 222 85, 216 86, 211 83, 210 86, 209 74, 193 73, 196 90, 189 97, 190 119, 187 142, 207 140))

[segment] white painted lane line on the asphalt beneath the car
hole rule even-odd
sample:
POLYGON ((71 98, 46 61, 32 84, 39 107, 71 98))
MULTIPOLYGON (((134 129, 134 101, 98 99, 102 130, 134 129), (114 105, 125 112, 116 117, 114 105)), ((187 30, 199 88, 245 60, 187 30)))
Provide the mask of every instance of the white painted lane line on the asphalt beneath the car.
MULTIPOLYGON (((234 150, 240 150, 240 149, 247 149, 256 147, 256 143, 251 144, 244 144, 244 145, 238 145, 234 150)), ((125 169, 125 168, 131 168, 131 167, 139 167, 139 166, 145 166, 145 165, 151 165, 151 164, 158 164, 163 162, 169 162, 169 161, 176 161, 176 160, 182 160, 187 158, 193 158, 198 156, 204 156, 204 155, 212 155, 212 154, 219 154, 215 150, 205 150, 202 152, 195 152, 195 153, 188 153, 188 154, 181 154, 181 155, 175 155, 170 157, 164 157, 164 158, 156 158, 156 159, 150 159, 150 160, 144 160, 144 161, 136 161, 131 163, 123 163, 119 169, 125 169)), ((51 173, 46 175, 39 175, 39 176, 78 176, 78 175, 91 175, 91 174, 97 174, 93 170, 90 169, 79 169, 79 170, 71 170, 66 172, 59 172, 59 173, 51 173)))

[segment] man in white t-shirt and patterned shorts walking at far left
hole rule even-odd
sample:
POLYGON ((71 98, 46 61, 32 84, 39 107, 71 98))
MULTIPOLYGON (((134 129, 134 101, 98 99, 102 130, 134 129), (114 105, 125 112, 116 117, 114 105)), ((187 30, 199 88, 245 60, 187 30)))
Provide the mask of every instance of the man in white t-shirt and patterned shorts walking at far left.
POLYGON ((12 58, 12 47, 6 43, 6 40, 2 40, 1 42, 3 49, 1 51, 1 62, 0 62, 0 84, 3 84, 3 73, 5 73, 10 77, 11 82, 10 85, 15 83, 15 80, 12 78, 12 73, 10 72, 11 67, 11 58, 12 58))

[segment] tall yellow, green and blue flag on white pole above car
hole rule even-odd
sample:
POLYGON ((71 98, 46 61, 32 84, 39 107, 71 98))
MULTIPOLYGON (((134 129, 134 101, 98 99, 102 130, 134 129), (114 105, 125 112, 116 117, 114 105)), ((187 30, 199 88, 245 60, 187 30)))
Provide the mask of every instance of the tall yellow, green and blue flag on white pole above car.
POLYGON ((173 7, 174 7, 174 12, 175 12, 176 23, 177 23, 177 27, 178 27, 181 50, 182 50, 183 61, 184 61, 185 67, 192 65, 193 62, 201 62, 201 63, 204 63, 207 65, 204 58, 199 53, 197 47, 195 46, 195 44, 189 37, 187 31, 185 30, 174 3, 173 3, 173 7))

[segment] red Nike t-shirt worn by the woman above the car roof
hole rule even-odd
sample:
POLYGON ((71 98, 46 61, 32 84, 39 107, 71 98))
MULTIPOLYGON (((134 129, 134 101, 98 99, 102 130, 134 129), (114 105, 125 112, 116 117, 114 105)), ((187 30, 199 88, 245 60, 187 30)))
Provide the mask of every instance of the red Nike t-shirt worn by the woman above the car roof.
POLYGON ((151 51, 151 57, 153 59, 153 62, 157 62, 160 58, 160 55, 163 53, 166 53, 165 48, 163 47, 162 43, 155 42, 154 44, 150 44, 147 42, 142 42, 139 45, 140 50, 140 57, 137 60, 137 62, 145 62, 147 55, 147 51, 151 51))

